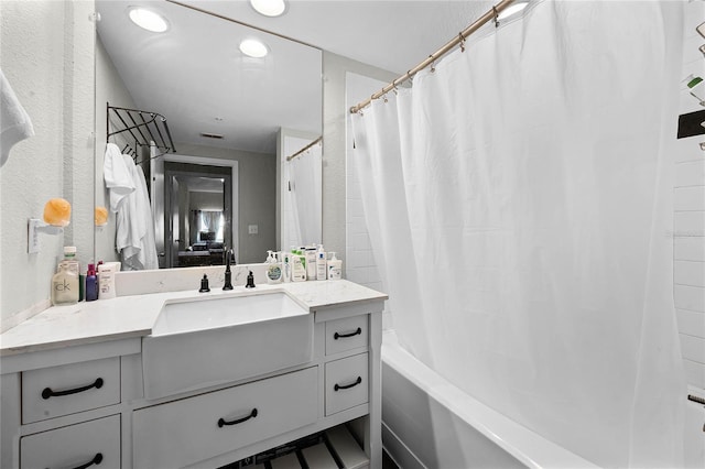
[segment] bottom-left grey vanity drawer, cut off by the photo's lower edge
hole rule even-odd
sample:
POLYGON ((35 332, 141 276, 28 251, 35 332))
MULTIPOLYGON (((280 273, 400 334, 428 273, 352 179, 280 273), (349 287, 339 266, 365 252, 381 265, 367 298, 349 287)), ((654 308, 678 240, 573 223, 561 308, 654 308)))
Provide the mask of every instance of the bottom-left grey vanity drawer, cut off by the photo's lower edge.
POLYGON ((20 438, 22 469, 91 467, 90 461, 100 469, 120 468, 119 415, 20 438))

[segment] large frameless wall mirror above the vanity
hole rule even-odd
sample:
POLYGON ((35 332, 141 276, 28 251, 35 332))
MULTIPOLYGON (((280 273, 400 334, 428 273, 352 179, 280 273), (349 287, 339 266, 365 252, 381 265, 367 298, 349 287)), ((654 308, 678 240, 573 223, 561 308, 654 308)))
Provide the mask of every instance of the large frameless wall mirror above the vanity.
MULTIPOLYGON (((322 51, 191 3, 96 1, 96 206, 109 216, 95 258, 123 269, 208 265, 230 249, 238 263, 262 262, 267 250, 321 242, 322 51), (166 30, 134 24, 138 7, 165 19, 166 30), (264 57, 239 50, 251 39, 264 57), (151 118, 155 124, 142 126, 151 118), (149 197, 135 214, 115 211, 121 186, 111 172, 126 159, 144 174, 149 197), (297 185, 295 174, 305 176, 297 185), (310 194, 305 206, 296 186, 310 194), (151 225, 156 264, 118 249, 135 243, 134 220, 151 225)), ((142 246, 151 251, 149 239, 142 246)))

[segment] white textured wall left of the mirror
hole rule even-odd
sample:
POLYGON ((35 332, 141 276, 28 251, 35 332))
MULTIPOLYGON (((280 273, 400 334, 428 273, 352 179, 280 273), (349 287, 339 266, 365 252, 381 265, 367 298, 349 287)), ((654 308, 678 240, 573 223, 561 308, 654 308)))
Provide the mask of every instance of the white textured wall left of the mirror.
POLYGON ((47 304, 64 243, 80 246, 82 262, 93 252, 93 10, 85 0, 0 2, 0 68, 35 131, 0 170, 3 329, 47 304), (26 220, 42 218, 54 197, 72 203, 72 226, 41 234, 41 252, 28 254, 26 220))

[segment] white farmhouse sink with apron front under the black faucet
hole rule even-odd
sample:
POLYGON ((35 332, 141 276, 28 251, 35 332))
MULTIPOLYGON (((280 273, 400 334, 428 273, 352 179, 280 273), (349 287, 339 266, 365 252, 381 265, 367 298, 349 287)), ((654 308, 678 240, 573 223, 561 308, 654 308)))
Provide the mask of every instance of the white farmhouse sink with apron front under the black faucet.
POLYGON ((313 315, 285 293, 166 303, 142 339, 147 399, 310 362, 313 315))

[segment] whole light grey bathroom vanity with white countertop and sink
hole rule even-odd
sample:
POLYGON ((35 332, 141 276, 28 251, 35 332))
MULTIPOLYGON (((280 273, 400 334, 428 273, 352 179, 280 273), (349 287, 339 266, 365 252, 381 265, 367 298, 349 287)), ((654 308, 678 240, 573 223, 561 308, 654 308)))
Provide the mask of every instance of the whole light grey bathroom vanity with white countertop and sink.
POLYGON ((217 468, 347 423, 380 468, 386 298, 326 281, 42 312, 0 336, 1 466, 217 468))

